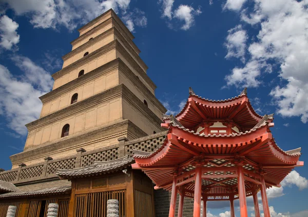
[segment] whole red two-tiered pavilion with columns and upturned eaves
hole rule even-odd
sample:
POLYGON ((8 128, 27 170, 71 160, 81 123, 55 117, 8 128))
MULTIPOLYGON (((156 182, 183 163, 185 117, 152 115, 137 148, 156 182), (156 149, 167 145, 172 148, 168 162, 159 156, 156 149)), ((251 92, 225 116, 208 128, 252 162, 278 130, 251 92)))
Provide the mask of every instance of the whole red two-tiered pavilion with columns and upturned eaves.
POLYGON ((257 192, 261 191, 264 216, 270 217, 266 188, 280 187, 291 170, 303 166, 300 148, 283 151, 270 128, 273 114, 261 116, 246 94, 227 100, 208 100, 189 88, 189 97, 176 116, 165 115, 167 136, 153 152, 134 151, 133 169, 140 169, 156 184, 171 192, 169 217, 182 217, 185 197, 194 199, 194 217, 203 217, 207 201, 240 202, 241 217, 247 217, 246 197, 253 196, 255 215, 260 217, 257 192))

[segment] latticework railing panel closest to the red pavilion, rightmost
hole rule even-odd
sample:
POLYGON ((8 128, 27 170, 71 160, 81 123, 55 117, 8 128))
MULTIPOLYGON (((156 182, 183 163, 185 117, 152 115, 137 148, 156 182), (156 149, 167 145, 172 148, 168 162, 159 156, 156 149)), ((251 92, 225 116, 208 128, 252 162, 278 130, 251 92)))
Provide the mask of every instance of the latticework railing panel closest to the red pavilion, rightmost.
POLYGON ((126 153, 132 156, 133 149, 146 151, 146 152, 153 152, 164 143, 165 137, 166 136, 164 135, 164 136, 156 137, 150 140, 129 144, 125 146, 126 153))

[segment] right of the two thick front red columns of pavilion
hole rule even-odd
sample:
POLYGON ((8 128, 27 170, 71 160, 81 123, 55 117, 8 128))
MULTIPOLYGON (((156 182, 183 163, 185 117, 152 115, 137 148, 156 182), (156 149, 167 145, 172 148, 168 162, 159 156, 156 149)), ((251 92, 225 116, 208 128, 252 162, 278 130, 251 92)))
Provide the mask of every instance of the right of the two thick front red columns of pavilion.
POLYGON ((244 170, 242 164, 238 165, 237 172, 241 217, 247 217, 246 190, 244 181, 244 170))

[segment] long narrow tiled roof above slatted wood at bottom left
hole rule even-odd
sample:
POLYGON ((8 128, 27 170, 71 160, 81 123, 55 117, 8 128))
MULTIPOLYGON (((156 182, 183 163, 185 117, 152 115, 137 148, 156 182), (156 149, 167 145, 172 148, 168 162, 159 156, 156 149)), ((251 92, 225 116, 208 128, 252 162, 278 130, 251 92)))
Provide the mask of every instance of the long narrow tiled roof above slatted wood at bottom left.
POLYGON ((71 186, 61 186, 61 187, 53 187, 53 188, 46 188, 36 191, 16 191, 1 194, 0 198, 14 198, 18 197, 21 198, 23 196, 36 196, 36 195, 49 195, 49 194, 63 194, 71 190, 71 186))

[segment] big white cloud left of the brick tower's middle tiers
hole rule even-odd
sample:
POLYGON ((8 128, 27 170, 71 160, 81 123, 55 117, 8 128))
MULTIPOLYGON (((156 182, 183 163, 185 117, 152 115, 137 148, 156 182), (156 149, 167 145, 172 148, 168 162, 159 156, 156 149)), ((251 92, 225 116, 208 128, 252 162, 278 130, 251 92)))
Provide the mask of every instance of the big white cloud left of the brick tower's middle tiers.
POLYGON ((27 57, 15 56, 13 61, 24 74, 16 77, 0 65, 0 114, 5 115, 10 129, 26 135, 25 124, 40 115, 42 103, 38 97, 50 91, 52 78, 27 57))

